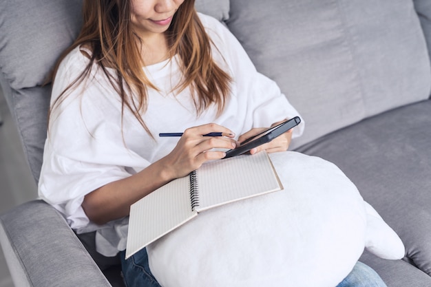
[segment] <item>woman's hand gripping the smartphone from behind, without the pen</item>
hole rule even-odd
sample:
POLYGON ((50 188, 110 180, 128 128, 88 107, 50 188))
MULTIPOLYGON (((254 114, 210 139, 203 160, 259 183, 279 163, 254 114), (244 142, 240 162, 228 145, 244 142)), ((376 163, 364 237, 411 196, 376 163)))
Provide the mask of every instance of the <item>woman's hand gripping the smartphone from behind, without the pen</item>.
MULTIPOLYGON (((285 120, 282 120, 277 123, 273 123, 271 127, 274 127, 275 125, 279 125, 280 123, 283 123, 285 120)), ((238 138, 238 142, 243 142, 247 138, 251 138, 252 136, 255 136, 257 134, 260 134, 262 131, 266 130, 268 128, 261 127, 261 128, 254 128, 249 131, 247 131, 245 134, 242 134, 240 138, 238 138)), ((271 140, 271 142, 266 142, 264 145, 260 145, 259 147, 255 147, 254 149, 250 150, 251 154, 257 153, 259 151, 266 150, 267 153, 273 153, 276 151, 286 151, 288 149, 288 146, 291 144, 292 140, 292 129, 289 129, 284 134, 278 136, 277 138, 274 138, 271 140)))

